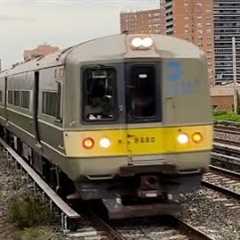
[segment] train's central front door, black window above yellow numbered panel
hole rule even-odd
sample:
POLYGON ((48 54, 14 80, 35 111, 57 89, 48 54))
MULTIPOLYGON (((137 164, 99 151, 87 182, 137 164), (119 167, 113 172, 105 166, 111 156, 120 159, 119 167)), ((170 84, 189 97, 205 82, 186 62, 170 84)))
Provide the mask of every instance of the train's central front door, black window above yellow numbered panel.
POLYGON ((129 63, 126 79, 126 131, 129 161, 157 148, 155 126, 161 124, 160 64, 129 63))

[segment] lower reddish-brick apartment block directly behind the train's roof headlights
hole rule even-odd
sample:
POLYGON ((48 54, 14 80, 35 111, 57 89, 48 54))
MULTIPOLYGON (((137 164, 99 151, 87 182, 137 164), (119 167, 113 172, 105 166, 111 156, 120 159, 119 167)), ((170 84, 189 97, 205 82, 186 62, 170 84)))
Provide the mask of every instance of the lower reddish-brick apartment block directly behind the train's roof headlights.
POLYGON ((161 34, 164 29, 163 9, 123 12, 120 15, 121 32, 161 34))

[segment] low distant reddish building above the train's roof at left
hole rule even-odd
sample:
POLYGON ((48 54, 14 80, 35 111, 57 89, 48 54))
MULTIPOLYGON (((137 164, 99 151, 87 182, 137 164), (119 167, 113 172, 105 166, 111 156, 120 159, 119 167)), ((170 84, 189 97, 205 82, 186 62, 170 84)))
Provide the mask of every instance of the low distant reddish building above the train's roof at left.
POLYGON ((47 44, 39 45, 35 49, 25 50, 24 51, 24 61, 29 61, 37 57, 44 57, 50 53, 58 51, 58 47, 53 47, 47 44))

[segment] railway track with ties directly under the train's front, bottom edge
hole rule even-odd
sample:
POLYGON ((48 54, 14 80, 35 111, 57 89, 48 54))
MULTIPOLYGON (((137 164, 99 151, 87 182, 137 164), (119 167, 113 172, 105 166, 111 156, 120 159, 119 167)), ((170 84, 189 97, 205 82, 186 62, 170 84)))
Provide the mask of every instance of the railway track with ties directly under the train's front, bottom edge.
POLYGON ((117 223, 106 223, 103 219, 93 214, 91 227, 83 227, 68 237, 80 237, 111 240, 213 240, 210 236, 193 226, 174 217, 145 218, 134 220, 121 220, 117 223))

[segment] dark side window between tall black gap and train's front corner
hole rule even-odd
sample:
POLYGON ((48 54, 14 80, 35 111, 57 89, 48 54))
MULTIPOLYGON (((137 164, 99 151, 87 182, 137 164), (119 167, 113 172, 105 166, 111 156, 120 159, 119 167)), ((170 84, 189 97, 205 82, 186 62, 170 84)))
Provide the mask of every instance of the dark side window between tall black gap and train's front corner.
POLYGON ((56 117, 58 107, 57 92, 43 92, 42 93, 42 113, 56 117))

